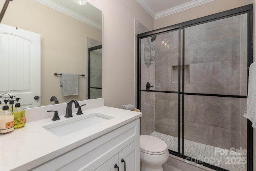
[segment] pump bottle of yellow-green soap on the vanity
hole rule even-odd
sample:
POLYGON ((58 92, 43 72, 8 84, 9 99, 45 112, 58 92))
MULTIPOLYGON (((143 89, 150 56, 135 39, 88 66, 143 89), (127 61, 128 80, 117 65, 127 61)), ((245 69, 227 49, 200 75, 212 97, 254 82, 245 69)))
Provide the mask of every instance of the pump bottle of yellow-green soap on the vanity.
POLYGON ((16 98, 16 104, 13 108, 14 114, 14 128, 22 127, 26 124, 25 110, 20 107, 20 98, 16 98))

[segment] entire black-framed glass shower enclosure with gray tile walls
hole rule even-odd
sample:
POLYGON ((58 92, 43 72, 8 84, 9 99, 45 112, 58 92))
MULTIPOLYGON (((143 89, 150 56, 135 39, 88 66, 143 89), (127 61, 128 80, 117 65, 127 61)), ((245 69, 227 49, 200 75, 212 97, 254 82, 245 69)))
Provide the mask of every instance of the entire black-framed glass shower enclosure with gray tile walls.
POLYGON ((251 171, 252 127, 243 113, 252 5, 138 34, 137 41, 141 134, 164 140, 188 163, 251 171))

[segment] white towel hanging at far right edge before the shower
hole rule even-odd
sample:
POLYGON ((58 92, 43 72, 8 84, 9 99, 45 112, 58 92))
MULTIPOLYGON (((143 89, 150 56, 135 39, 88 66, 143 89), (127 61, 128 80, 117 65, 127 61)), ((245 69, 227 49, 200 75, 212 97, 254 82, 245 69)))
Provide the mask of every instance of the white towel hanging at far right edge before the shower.
POLYGON ((252 127, 256 128, 256 62, 250 65, 247 105, 244 110, 244 117, 252 121, 252 127))

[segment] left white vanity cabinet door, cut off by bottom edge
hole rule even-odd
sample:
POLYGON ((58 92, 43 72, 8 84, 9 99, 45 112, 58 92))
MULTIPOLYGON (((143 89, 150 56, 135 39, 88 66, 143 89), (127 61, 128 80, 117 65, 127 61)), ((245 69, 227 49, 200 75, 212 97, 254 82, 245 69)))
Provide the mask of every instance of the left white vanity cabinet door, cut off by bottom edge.
POLYGON ((95 171, 119 171, 118 167, 118 154, 116 154, 103 165, 98 167, 95 171))

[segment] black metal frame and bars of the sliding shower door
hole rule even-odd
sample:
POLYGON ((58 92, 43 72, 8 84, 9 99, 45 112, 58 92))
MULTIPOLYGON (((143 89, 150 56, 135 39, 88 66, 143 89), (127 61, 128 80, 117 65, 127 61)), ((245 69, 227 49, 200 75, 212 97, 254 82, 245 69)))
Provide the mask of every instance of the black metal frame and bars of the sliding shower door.
MULTIPOLYGON (((192 161, 192 157, 184 155, 184 95, 204 95, 204 96, 216 96, 216 97, 234 97, 234 98, 247 98, 247 96, 242 95, 220 95, 220 94, 205 94, 205 93, 185 93, 184 92, 184 30, 185 28, 196 26, 199 24, 204 24, 207 22, 212 22, 215 20, 220 20, 223 18, 228 18, 232 16, 237 16, 240 14, 247 14, 247 67, 250 66, 253 62, 253 43, 252 43, 252 37, 253 37, 253 6, 252 4, 234 8, 231 10, 227 10, 224 12, 219 12, 216 14, 212 14, 209 16, 205 16, 202 18, 190 20, 187 22, 182 22, 180 24, 175 24, 172 26, 160 28, 157 30, 152 30, 150 32, 142 33, 137 35, 137 108, 140 109, 140 98, 141 98, 141 91, 149 91, 149 92, 162 92, 162 93, 178 93, 178 152, 172 151, 169 149, 169 153, 176 155, 178 157, 181 157, 183 159, 187 159, 189 161, 192 161), (179 42, 178 42, 178 92, 176 91, 157 91, 157 90, 142 90, 141 89, 141 39, 147 38, 150 36, 155 36, 158 34, 163 34, 166 32, 171 31, 179 31, 179 42), (182 40, 181 39, 182 34, 182 40), (182 48, 181 48, 181 42, 182 42, 182 48), (181 56, 182 51, 182 56, 181 56), (181 64, 182 59, 182 64, 181 64), (182 66, 182 83, 180 80, 181 77, 181 71, 180 67, 182 66), (182 84, 182 90, 180 89, 180 85, 182 84), (182 103, 180 101, 180 96, 182 95, 182 103), (180 107, 182 107, 182 111, 180 110, 180 107), (181 124, 182 123, 182 124, 181 124), (180 125, 181 124, 181 125, 180 125), (181 130, 180 130, 181 129, 181 130), (180 135, 182 134, 182 135, 180 135), (182 143, 180 142, 180 139, 182 139, 182 143), (181 147, 180 147, 180 144, 181 147)), ((248 78, 249 72, 247 72, 247 78, 248 78)), ((247 86, 248 86, 248 79, 247 79, 247 86)), ((252 128, 252 122, 247 119, 247 171, 253 170, 253 128, 252 128)), ((193 160, 194 161, 194 160, 193 160)), ((200 165, 204 165, 206 167, 209 167, 211 169, 215 169, 217 171, 228 171, 226 169, 210 165, 209 163, 205 163, 202 161, 195 160, 195 163, 198 163, 200 165)))

